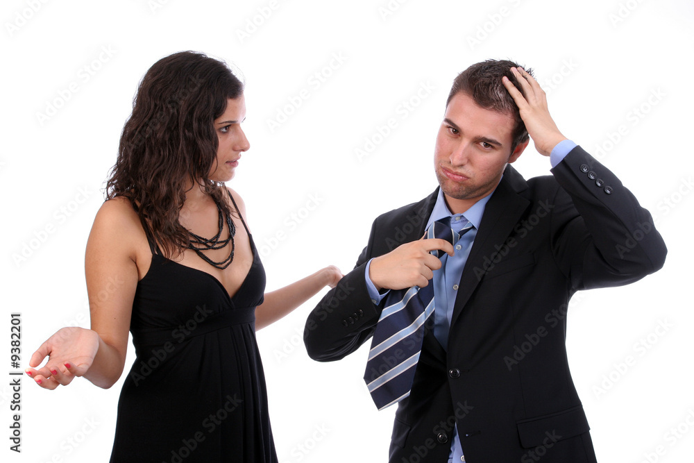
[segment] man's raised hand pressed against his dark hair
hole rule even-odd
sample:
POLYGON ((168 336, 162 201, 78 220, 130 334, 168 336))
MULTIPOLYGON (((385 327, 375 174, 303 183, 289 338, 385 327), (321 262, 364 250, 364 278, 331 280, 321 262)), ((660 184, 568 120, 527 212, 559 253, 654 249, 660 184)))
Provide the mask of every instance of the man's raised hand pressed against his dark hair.
POLYGON ((525 122, 525 128, 535 144, 535 149, 541 155, 549 156, 557 143, 566 140, 566 137, 559 132, 557 124, 550 116, 545 91, 540 84, 521 67, 511 67, 511 72, 523 88, 525 97, 506 76, 502 77, 502 83, 516 101, 518 110, 521 112, 521 119, 525 122))

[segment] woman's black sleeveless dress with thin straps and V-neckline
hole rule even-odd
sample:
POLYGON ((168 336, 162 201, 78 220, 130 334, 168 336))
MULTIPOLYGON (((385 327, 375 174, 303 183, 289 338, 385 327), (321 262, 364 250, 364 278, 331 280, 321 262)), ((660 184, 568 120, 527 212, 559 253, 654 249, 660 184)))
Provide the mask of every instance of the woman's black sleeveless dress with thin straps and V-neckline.
POLYGON ((265 272, 248 237, 253 264, 231 298, 210 273, 150 244, 152 264, 133 302, 137 358, 121 390, 112 463, 277 462, 255 340, 265 272))

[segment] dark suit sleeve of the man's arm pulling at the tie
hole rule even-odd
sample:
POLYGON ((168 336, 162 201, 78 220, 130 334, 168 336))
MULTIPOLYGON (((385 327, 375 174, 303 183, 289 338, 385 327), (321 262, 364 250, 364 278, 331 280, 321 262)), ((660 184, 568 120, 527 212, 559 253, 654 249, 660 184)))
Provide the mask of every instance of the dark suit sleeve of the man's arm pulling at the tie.
POLYGON ((376 221, 371 227, 369 244, 359 255, 355 268, 325 294, 306 320, 304 344, 313 360, 340 360, 373 335, 382 307, 371 301, 364 271, 366 262, 374 257, 371 249, 375 228, 376 221))

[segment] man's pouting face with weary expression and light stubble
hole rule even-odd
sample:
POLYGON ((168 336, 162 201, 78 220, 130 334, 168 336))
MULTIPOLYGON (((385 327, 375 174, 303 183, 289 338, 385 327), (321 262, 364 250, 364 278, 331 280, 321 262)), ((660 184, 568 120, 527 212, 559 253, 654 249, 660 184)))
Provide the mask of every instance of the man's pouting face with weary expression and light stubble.
POLYGON ((527 142, 511 153, 513 128, 511 115, 481 108, 468 94, 450 100, 436 139, 434 169, 451 212, 465 212, 490 194, 507 163, 523 153, 527 142))

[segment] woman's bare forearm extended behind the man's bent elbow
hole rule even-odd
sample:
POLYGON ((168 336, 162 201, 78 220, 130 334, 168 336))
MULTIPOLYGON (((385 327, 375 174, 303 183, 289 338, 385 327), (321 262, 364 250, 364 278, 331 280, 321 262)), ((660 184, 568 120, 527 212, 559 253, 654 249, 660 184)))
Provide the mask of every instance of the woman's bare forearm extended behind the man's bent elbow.
POLYGON ((342 276, 342 272, 337 267, 330 265, 291 285, 265 293, 265 300, 255 309, 255 330, 278 321, 308 301, 323 287, 334 288, 342 276))

